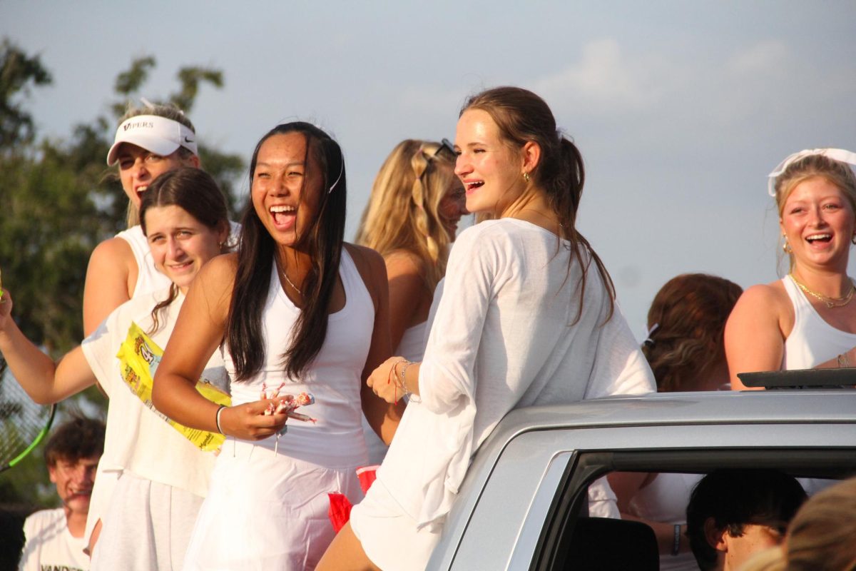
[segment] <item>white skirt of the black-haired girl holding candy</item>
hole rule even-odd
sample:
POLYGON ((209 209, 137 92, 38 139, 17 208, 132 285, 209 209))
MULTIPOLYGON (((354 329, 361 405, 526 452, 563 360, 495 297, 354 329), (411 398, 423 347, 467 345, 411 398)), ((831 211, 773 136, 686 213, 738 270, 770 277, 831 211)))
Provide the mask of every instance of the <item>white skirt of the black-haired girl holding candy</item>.
MULTIPOLYGON (((361 462, 360 462, 361 464, 361 462)), ((329 493, 362 498, 355 469, 229 438, 211 473, 184 571, 313 569, 336 533, 329 493)))

